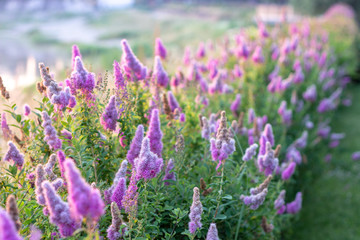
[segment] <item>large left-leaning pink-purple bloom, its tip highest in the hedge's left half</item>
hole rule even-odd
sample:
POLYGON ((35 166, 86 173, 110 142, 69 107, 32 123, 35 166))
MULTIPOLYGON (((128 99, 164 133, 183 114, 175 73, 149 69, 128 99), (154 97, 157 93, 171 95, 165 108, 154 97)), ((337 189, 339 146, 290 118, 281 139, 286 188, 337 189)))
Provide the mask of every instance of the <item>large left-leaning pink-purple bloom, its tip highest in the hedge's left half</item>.
POLYGON ((121 41, 121 46, 123 51, 121 63, 127 77, 132 81, 145 79, 147 69, 135 56, 126 39, 121 41))

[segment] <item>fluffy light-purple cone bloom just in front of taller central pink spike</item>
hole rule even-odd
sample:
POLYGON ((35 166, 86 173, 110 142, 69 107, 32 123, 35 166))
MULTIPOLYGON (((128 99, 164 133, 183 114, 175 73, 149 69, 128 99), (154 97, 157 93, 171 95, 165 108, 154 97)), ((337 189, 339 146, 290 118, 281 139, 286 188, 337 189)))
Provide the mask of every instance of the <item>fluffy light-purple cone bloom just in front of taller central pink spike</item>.
POLYGON ((142 141, 141 151, 135 159, 136 179, 152 179, 163 167, 163 160, 150 151, 150 140, 145 137, 142 141))

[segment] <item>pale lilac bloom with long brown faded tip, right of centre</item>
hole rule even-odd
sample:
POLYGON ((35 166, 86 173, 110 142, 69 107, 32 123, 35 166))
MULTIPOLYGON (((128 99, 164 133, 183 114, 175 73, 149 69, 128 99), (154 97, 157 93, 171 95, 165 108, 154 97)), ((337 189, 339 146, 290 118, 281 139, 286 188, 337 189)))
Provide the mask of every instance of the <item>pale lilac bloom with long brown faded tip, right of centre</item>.
POLYGON ((220 125, 216 133, 216 139, 210 139, 210 151, 214 161, 219 161, 217 168, 223 160, 227 159, 235 151, 235 140, 231 131, 226 127, 226 113, 221 112, 220 125))

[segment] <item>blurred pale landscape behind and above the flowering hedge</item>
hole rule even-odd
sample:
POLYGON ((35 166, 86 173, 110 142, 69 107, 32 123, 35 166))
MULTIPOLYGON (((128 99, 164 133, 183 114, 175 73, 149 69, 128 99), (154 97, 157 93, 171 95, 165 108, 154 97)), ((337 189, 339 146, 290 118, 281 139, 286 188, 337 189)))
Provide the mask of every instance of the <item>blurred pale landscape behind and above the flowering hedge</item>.
MULTIPOLYGON (((71 46, 80 47, 94 72, 112 69, 128 39, 137 56, 150 63, 160 37, 171 58, 185 45, 213 41, 243 26, 294 21, 321 14, 335 0, 0 0, 0 76, 16 103, 31 104, 37 65, 50 66, 57 80, 69 74, 71 46), (24 91, 13 92, 23 88, 24 91)), ((357 11, 360 1, 345 1, 357 11)))

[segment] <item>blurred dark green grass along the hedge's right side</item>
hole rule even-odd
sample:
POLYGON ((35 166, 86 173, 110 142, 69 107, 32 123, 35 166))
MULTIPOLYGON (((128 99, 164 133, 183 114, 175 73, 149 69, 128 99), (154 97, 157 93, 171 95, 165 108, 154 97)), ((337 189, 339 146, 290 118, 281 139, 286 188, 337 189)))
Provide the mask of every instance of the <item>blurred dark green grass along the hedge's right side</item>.
POLYGON ((360 85, 351 86, 348 93, 353 105, 339 109, 332 124, 333 132, 344 132, 346 138, 305 192, 303 210, 289 239, 360 239, 360 162, 351 159, 354 151, 360 151, 360 85))

